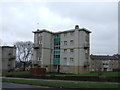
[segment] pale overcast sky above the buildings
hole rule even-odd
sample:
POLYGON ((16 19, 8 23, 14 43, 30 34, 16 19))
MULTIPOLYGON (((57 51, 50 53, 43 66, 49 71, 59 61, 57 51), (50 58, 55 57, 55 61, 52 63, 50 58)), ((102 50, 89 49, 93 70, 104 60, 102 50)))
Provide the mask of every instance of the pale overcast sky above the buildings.
POLYGON ((0 8, 1 45, 33 41, 37 28, 56 32, 79 24, 92 32, 91 54, 118 53, 117 2, 3 2, 0 8))

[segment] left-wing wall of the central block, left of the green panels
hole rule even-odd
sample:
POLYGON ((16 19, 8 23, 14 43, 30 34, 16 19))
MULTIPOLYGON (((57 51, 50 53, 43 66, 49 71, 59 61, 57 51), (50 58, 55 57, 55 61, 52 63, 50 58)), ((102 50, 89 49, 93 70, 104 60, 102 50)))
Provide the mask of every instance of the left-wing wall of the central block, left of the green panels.
MULTIPOLYGON (((39 34, 40 33, 35 33, 34 34, 34 44, 38 44, 39 45, 39 34)), ((39 64, 41 67, 46 67, 47 71, 50 71, 50 65, 53 59, 53 35, 51 33, 48 32, 42 32, 41 33, 42 39, 41 39, 41 45, 42 47, 40 47, 42 49, 41 52, 41 60, 38 60, 37 55, 39 55, 39 49, 34 49, 33 50, 33 63, 34 64, 39 64)))

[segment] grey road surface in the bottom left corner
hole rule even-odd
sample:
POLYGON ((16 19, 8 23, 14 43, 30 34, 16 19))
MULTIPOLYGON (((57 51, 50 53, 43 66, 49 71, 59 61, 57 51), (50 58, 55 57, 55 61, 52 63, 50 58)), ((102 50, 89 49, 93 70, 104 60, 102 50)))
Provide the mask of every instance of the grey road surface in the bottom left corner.
MULTIPOLYGON (((53 88, 47 86, 16 84, 16 83, 8 83, 8 82, 2 83, 2 90, 48 90, 48 89, 61 90, 60 88, 53 88)), ((69 90, 69 89, 62 89, 62 90, 69 90)))

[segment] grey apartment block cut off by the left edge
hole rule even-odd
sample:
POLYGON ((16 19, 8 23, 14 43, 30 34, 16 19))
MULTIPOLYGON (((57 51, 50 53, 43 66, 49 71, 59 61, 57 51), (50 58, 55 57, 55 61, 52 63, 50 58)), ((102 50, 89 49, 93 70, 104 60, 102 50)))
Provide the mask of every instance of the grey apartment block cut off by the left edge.
POLYGON ((1 72, 9 72, 15 68, 16 48, 12 46, 0 46, 1 72))

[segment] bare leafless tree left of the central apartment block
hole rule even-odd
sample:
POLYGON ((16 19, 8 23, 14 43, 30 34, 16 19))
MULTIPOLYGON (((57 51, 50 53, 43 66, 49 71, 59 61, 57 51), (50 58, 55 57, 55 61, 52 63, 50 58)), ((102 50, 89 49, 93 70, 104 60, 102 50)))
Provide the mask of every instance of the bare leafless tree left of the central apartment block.
POLYGON ((14 45, 16 46, 16 59, 23 63, 23 70, 25 71, 26 63, 28 63, 32 57, 33 43, 31 41, 18 41, 14 45))

